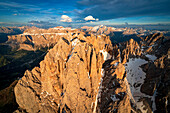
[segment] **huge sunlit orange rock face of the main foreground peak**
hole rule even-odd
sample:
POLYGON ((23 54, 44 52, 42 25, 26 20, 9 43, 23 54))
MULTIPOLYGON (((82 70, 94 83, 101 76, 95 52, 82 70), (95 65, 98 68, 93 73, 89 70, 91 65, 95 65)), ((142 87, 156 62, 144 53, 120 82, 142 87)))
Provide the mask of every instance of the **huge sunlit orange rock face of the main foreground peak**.
POLYGON ((107 37, 91 37, 89 42, 83 35, 61 38, 40 67, 26 71, 16 85, 20 108, 43 113, 92 112, 96 107, 104 56, 109 54, 104 48, 109 49, 109 44, 107 37), (101 48, 107 54, 102 53, 101 48))

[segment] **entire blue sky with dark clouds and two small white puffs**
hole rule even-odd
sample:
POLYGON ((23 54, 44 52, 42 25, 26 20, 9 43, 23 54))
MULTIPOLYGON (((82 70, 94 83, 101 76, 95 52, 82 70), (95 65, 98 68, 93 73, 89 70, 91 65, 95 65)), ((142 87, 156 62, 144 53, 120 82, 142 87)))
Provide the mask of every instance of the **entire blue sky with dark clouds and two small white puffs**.
POLYGON ((0 0, 0 25, 170 23, 170 0, 0 0))

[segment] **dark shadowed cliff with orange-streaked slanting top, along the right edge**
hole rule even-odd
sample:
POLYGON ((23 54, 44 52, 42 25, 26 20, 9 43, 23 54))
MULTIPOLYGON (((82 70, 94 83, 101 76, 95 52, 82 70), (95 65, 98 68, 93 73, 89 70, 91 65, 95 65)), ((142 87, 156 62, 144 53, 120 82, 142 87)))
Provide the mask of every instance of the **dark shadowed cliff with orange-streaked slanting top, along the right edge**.
POLYGON ((163 34, 156 33, 144 38, 143 44, 144 52, 153 56, 149 57, 148 63, 141 66, 146 73, 141 91, 150 96, 155 95, 155 112, 168 113, 170 111, 170 40, 165 39, 163 34))

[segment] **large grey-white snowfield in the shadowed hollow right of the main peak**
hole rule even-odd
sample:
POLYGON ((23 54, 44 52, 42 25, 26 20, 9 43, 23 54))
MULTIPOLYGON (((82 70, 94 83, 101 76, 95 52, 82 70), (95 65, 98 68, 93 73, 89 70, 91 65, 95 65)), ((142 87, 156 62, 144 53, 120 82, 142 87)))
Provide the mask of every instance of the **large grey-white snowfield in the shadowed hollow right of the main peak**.
MULTIPOLYGON (((155 57, 152 55, 148 56, 152 61, 155 60, 155 57)), ((141 65, 148 63, 146 60, 141 58, 130 58, 129 62, 126 63, 125 69, 127 72, 127 77, 125 79, 127 85, 127 92, 131 100, 136 104, 137 108, 142 111, 142 113, 147 113, 148 109, 145 109, 143 101, 140 101, 141 98, 147 97, 150 98, 152 103, 152 111, 156 110, 155 105, 155 96, 156 91, 153 96, 146 95, 140 91, 141 85, 144 82, 145 72, 140 68, 141 65)))

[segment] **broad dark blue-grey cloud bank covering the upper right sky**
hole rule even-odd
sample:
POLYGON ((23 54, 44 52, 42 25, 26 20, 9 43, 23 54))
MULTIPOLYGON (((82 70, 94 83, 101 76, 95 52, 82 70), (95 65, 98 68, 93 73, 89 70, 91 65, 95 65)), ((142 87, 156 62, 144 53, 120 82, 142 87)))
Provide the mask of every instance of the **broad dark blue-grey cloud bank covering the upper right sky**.
POLYGON ((79 5, 86 6, 79 17, 93 15, 100 20, 134 16, 170 15, 170 0, 81 0, 79 5))

